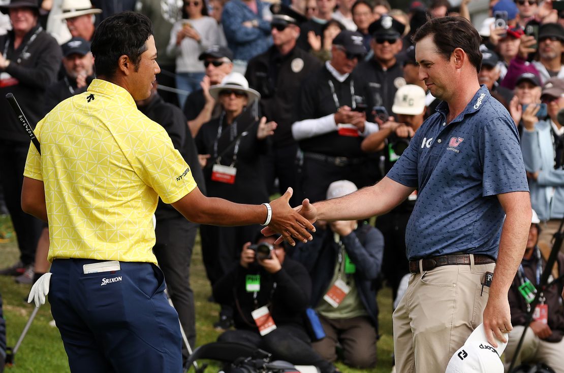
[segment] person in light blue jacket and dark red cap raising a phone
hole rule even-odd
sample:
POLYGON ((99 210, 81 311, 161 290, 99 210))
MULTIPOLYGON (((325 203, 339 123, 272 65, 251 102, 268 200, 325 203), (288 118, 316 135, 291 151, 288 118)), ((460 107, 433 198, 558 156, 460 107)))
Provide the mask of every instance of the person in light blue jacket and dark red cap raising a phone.
POLYGON ((564 79, 544 83, 541 101, 547 105, 548 118, 536 118, 540 106, 525 110, 521 149, 531 205, 543 229, 540 239, 551 242, 564 216, 564 127, 558 122, 558 112, 564 108, 564 79))

